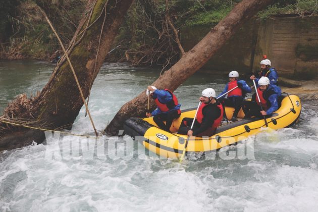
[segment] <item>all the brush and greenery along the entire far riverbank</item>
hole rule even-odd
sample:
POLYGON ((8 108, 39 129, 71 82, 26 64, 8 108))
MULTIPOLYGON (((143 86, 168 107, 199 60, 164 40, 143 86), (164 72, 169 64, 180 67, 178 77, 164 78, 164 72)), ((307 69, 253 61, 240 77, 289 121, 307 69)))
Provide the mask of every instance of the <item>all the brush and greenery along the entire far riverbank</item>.
MULTIPOLYGON (((60 46, 40 6, 67 46, 87 0, 4 0, 0 6, 0 58, 52 60, 60 46)), ((184 27, 215 26, 240 0, 136 0, 127 13, 109 62, 169 67, 184 54, 184 27)), ((258 13, 259 20, 273 15, 316 15, 316 0, 280 0, 258 13)))

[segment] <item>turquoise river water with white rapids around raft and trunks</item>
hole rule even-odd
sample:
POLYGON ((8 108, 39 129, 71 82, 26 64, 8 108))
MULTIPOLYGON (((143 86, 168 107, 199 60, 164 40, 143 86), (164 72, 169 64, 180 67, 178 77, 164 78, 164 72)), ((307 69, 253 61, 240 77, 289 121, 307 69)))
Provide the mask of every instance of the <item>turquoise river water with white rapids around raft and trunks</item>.
MULTIPOLYGON (((0 110, 16 94, 40 90, 53 69, 46 62, 0 62, 0 110)), ((159 73, 158 69, 104 64, 89 102, 97 130, 103 130, 121 105, 159 73)), ((225 74, 196 73, 175 94, 183 109, 194 108, 201 90, 213 87, 219 93, 225 79, 225 74)), ((274 140, 264 132, 239 144, 253 147, 253 158, 244 160, 217 157, 180 165, 151 154, 111 156, 116 154, 113 150, 90 158, 74 148, 63 154, 77 139, 74 136, 48 135, 43 144, 0 153, 0 210, 316 211, 318 107, 317 102, 302 103, 299 123, 274 132, 274 140)), ((92 132, 84 114, 82 108, 72 133, 92 132)), ((104 139, 112 145, 112 138, 104 139)), ((80 142, 89 145, 89 140, 80 142)), ((134 154, 143 149, 136 146, 134 154)))

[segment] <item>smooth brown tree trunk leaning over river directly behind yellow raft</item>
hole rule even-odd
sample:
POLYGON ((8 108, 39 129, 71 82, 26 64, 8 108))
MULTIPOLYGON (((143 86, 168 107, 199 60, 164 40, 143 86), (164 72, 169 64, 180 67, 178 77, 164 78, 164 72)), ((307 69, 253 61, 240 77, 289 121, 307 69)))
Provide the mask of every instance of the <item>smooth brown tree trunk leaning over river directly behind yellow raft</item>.
MULTIPOLYGON (((270 5, 273 0, 243 0, 216 27, 197 43, 152 85, 174 91, 186 79, 199 70, 229 40, 231 36, 253 15, 270 5)), ((146 111, 145 92, 122 106, 111 123, 105 128, 109 135, 116 135, 126 119, 143 116, 146 111)))

